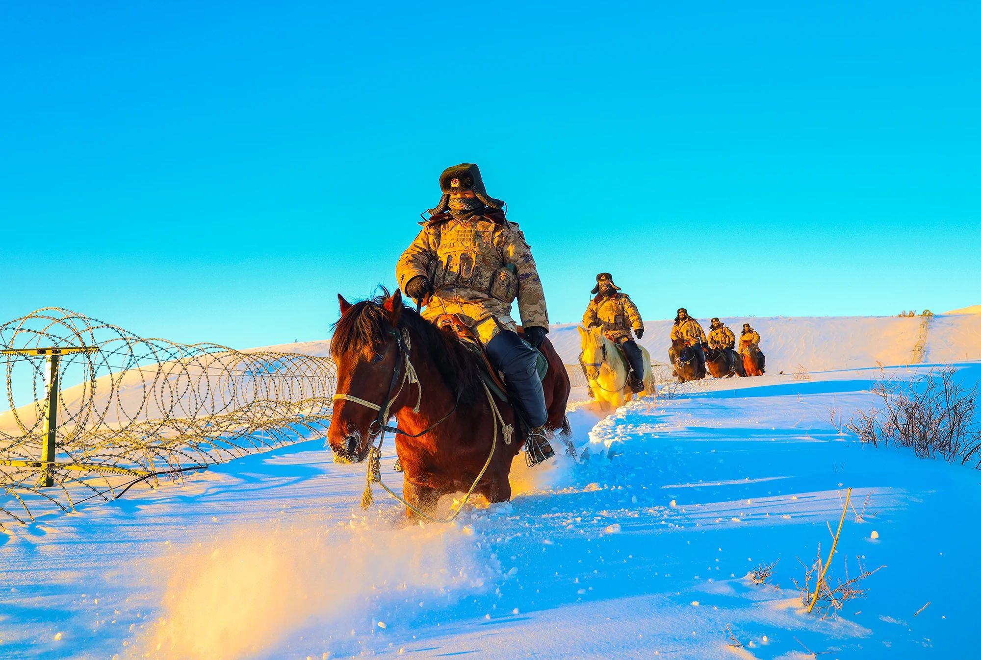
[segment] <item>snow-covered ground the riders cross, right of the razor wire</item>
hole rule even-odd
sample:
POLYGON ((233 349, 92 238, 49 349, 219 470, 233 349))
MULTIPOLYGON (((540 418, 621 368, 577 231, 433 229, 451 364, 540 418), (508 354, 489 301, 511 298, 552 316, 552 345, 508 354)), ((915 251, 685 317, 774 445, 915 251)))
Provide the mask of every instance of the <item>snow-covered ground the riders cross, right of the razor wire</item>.
MULTIPOLYGON (((970 319, 934 319, 927 358, 977 382, 970 319)), ((12 528, 0 658, 970 657, 981 472, 865 447, 828 421, 871 404, 875 360, 908 360, 919 320, 750 319, 770 342, 768 375, 602 419, 577 402, 589 459, 528 470, 519 456, 513 501, 459 524, 400 528, 378 490, 361 512, 364 466, 334 464, 312 439, 12 528), (777 373, 798 363, 809 380, 777 373), (829 576, 846 558, 853 575, 856 556, 886 568, 821 620, 793 580, 798 558, 827 555, 850 487, 829 576), (779 589, 750 583, 776 560, 779 589)), ((663 353, 656 323, 645 343, 663 353)), ((574 326, 551 337, 574 361, 574 326)), ((394 484, 392 459, 389 445, 394 484)))

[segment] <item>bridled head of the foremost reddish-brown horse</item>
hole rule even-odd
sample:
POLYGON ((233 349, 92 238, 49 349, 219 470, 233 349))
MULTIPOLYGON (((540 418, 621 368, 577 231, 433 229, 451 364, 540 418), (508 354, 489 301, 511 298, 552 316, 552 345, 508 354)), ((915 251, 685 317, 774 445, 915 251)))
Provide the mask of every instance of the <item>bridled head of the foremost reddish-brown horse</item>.
MULTIPOLYGON (((336 322, 331 355, 337 365, 337 395, 327 440, 339 462, 360 462, 368 455, 371 440, 381 431, 392 374, 403 359, 398 322, 404 306, 397 290, 392 296, 351 305, 339 294, 340 319, 336 322), (354 401, 359 400, 359 401, 354 401), (365 403, 368 403, 367 405, 365 403)), ((392 408, 394 409, 394 408, 392 408)))

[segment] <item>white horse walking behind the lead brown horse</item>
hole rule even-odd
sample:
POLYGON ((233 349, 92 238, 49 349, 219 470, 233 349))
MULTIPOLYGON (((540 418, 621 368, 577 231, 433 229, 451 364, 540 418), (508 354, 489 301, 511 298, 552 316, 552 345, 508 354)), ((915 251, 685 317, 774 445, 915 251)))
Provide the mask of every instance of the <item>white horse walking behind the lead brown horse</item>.
MULTIPOLYGON (((611 340, 599 328, 586 329, 578 326, 582 353, 580 362, 586 369, 586 379, 593 396, 600 405, 619 407, 634 399, 630 389, 630 366, 611 340)), ((650 370, 650 354, 642 346, 644 354, 644 396, 654 394, 654 374, 650 370)))

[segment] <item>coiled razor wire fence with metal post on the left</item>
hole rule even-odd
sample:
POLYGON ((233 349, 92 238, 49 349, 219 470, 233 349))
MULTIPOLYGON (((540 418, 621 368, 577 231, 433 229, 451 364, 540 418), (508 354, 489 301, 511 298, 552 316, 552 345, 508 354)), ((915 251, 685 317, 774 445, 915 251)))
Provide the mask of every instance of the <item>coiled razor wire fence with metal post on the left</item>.
POLYGON ((55 462, 39 462, 50 384, 43 357, 4 354, 0 527, 39 512, 108 500, 135 481, 156 487, 187 470, 325 436, 336 390, 329 357, 235 351, 138 337, 60 307, 0 325, 0 349, 88 347, 57 373, 55 462), (39 471, 54 476, 42 488, 39 471))

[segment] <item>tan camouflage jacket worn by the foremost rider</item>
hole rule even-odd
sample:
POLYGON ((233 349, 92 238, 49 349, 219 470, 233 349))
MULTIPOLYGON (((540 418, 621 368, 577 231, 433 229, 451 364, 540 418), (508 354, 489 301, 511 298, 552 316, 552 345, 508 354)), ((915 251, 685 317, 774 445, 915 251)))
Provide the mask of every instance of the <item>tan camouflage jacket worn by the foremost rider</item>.
POLYGON ((404 290, 423 275, 436 290, 423 316, 458 314, 487 343, 499 328, 515 330, 510 311, 517 298, 525 326, 548 327, 548 311, 532 251, 525 235, 504 213, 486 210, 459 220, 439 213, 422 222, 416 236, 395 266, 404 290))

